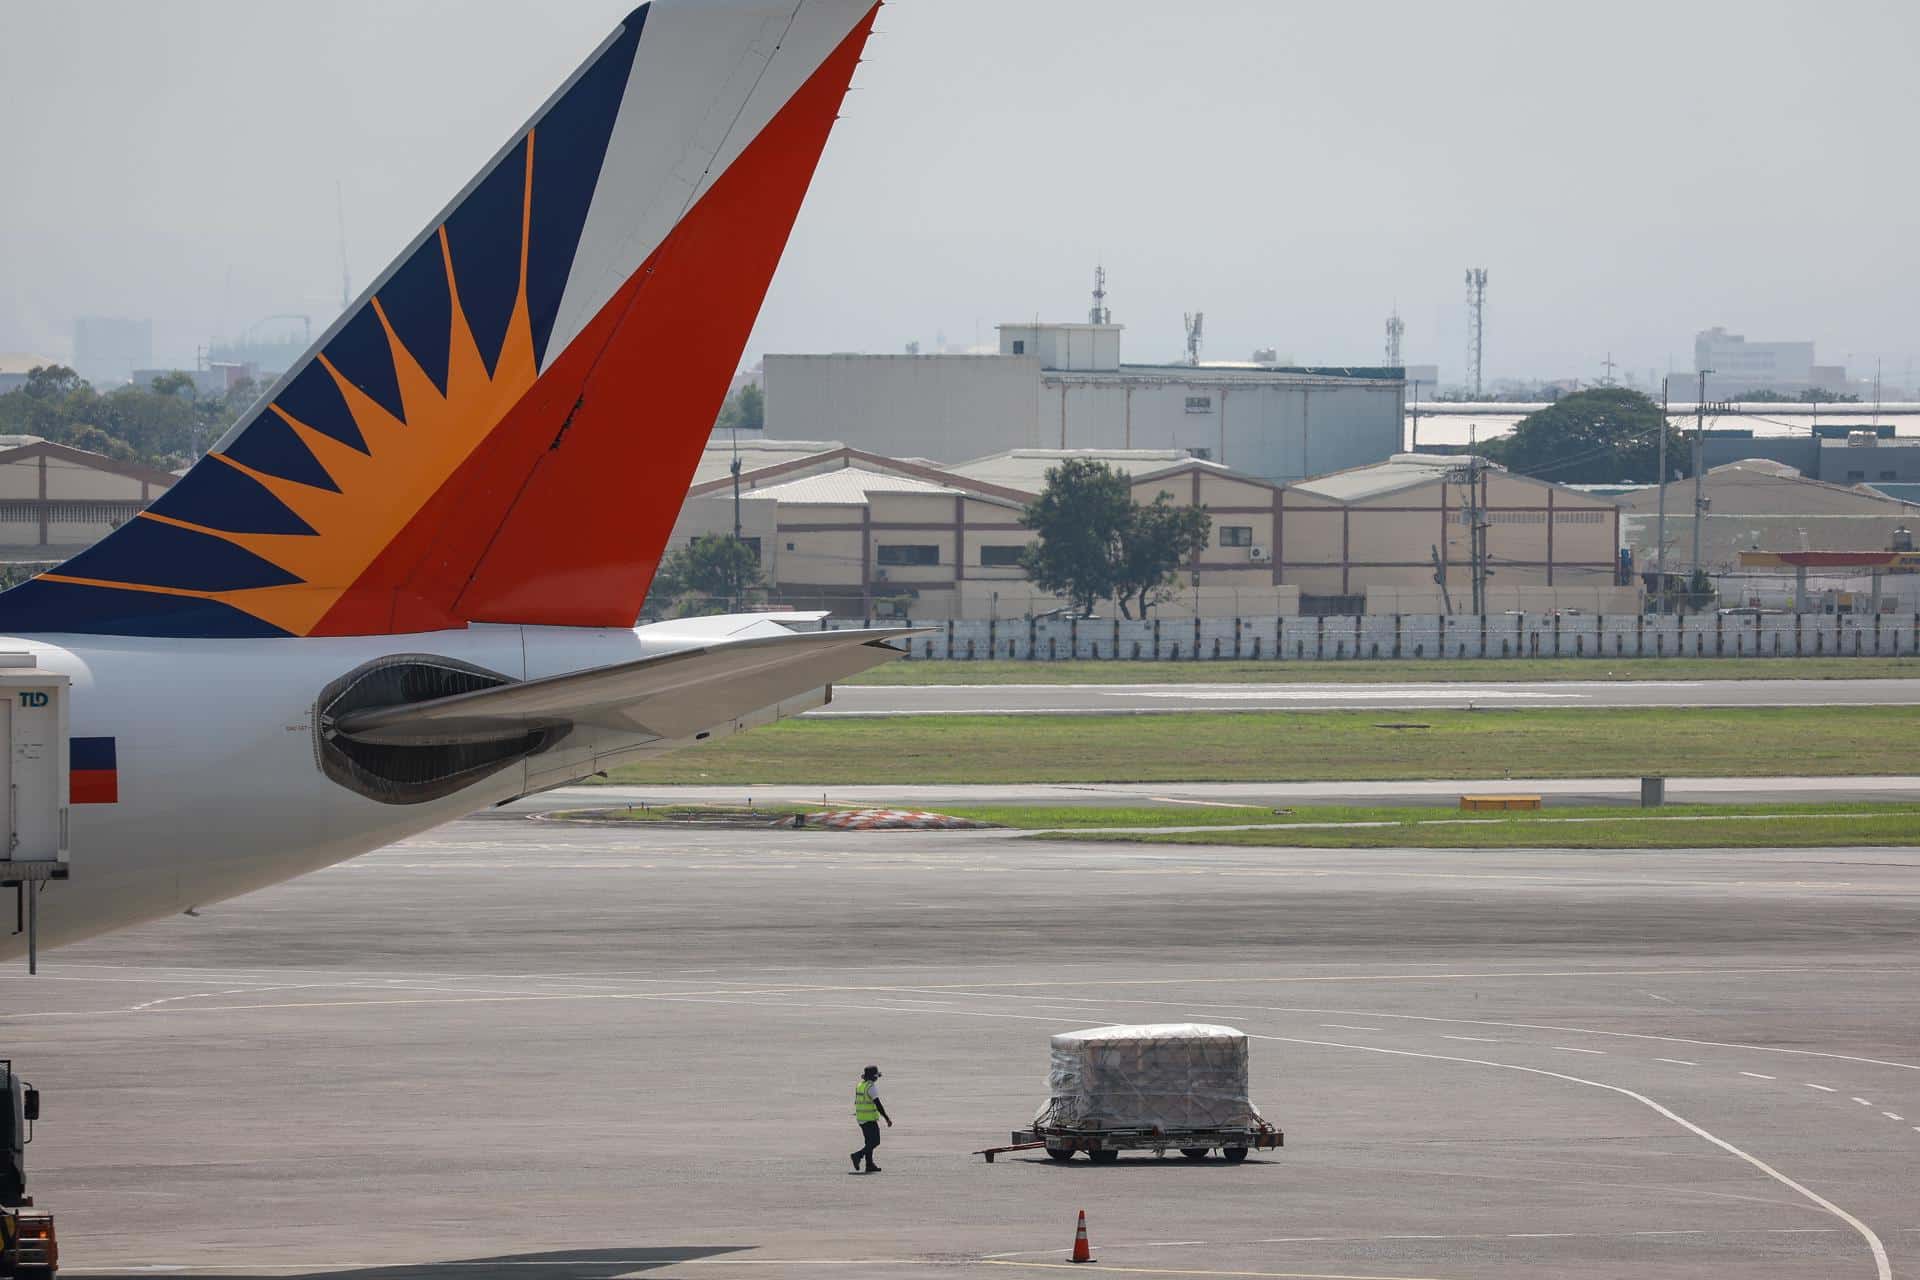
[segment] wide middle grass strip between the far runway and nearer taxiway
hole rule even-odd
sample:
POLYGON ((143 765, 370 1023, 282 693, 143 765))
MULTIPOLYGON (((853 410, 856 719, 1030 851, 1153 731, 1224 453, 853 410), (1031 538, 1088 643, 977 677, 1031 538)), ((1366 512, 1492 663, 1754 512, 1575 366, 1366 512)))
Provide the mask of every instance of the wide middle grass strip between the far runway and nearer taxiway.
POLYGON ((1100 783, 1899 773, 1901 706, 1173 712, 787 720, 612 770, 614 783, 1100 783), (1425 729, 1388 729, 1386 723, 1425 729))

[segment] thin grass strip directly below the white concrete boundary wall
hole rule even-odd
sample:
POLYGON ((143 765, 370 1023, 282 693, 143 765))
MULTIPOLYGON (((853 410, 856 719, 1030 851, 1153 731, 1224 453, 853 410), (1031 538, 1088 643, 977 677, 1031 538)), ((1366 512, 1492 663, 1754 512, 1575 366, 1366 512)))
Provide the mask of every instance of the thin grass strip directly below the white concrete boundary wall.
POLYGON ((849 685, 1192 685, 1507 679, 1893 679, 1920 658, 1434 658, 1430 662, 889 662, 849 685))

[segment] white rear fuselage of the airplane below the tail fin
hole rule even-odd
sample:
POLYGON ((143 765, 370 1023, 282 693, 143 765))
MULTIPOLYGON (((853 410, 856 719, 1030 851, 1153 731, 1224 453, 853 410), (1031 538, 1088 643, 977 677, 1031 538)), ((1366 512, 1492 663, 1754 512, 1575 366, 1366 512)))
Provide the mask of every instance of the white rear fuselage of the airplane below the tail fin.
MULTIPOLYGON (((712 628, 472 626, 420 635, 294 639, 0 637, 73 679, 69 733, 111 737, 117 800, 71 806, 69 879, 40 894, 40 946, 173 915, 332 865, 474 810, 664 752, 624 735, 530 756, 453 794, 384 804, 317 768, 319 693, 392 654, 434 654, 515 681, 710 647, 712 628)), ((799 695, 712 725, 712 739, 816 706, 799 695)), ((0 936, 0 956, 25 936, 0 936)))

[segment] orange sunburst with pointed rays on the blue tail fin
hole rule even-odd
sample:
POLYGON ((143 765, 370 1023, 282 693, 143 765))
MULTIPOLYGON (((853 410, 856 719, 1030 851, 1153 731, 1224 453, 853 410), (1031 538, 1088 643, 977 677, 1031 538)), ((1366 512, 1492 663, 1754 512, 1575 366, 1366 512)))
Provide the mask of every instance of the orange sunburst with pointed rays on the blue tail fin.
POLYGON ((334 478, 338 493, 269 476, 232 459, 215 455, 228 466, 238 466, 278 497, 317 533, 223 533, 202 530, 246 547, 253 555, 278 564, 301 581, 286 587, 255 587, 246 591, 211 593, 257 618, 294 635, 309 635, 340 595, 351 587, 388 543, 407 526, 420 507, 440 491, 449 476, 492 434, 507 411, 518 403, 540 376, 534 363, 534 330, 526 303, 526 244, 532 217, 534 138, 526 140, 526 180, 520 201, 520 278, 493 374, 474 342, 461 309, 459 286, 453 274, 453 253, 445 226, 440 228, 440 255, 447 273, 447 296, 453 305, 451 342, 447 357, 445 395, 420 368, 413 353, 399 342, 388 322, 380 299, 372 299, 374 315, 386 332, 394 353, 394 372, 399 380, 407 418, 401 422, 372 397, 348 382, 324 357, 319 359, 340 386, 348 411, 367 441, 367 453, 344 445, 324 432, 278 413, 300 434, 334 478))

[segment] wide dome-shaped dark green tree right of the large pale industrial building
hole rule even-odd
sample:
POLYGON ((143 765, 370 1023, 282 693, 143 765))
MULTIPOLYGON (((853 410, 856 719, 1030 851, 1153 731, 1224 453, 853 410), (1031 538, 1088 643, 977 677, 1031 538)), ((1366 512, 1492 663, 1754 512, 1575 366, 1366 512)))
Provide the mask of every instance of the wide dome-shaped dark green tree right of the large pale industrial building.
POLYGON ((1526 415, 1511 436, 1488 441, 1480 453, 1507 470, 1559 484, 1651 484, 1659 480, 1661 430, 1667 464, 1684 464, 1680 432, 1659 405, 1628 388, 1592 388, 1526 415))

